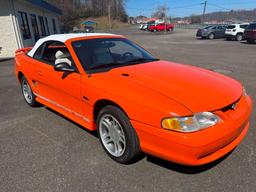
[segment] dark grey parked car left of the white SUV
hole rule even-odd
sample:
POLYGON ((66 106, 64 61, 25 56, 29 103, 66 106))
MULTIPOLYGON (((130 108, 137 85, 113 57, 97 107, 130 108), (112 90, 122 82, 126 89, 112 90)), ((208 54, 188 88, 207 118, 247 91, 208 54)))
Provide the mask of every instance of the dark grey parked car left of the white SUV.
POLYGON ((224 38, 227 25, 211 25, 198 29, 196 36, 202 39, 224 38))

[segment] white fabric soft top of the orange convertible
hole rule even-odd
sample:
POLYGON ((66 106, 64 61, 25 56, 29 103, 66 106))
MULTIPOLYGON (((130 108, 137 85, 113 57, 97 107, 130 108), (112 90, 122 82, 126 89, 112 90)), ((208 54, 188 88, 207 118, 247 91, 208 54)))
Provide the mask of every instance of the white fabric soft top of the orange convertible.
POLYGON ((39 39, 35 46, 28 52, 28 56, 33 57, 36 50, 46 41, 60 41, 65 43, 69 39, 78 38, 78 37, 93 37, 93 36, 120 36, 110 33, 67 33, 67 34, 56 34, 44 37, 39 39))

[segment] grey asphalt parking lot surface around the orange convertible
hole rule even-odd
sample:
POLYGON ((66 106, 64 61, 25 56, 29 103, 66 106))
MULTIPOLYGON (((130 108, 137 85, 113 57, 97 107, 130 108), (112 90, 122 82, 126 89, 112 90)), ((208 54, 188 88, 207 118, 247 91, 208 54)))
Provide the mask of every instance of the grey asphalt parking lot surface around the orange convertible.
MULTIPOLYGON (((219 71, 241 81, 256 99, 256 44, 197 40, 194 30, 119 34, 158 58, 219 71)), ((45 107, 23 101, 13 60, 0 62, 0 191, 241 191, 256 190, 255 112, 246 139, 231 154, 203 167, 144 156, 112 161, 97 137, 45 107)))

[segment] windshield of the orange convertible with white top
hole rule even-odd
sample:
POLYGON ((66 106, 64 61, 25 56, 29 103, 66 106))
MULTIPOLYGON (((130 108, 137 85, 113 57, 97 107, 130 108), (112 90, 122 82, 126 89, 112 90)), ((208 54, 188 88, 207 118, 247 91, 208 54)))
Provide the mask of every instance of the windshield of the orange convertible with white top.
POLYGON ((86 71, 111 69, 156 61, 154 56, 125 38, 97 38, 72 43, 86 71))

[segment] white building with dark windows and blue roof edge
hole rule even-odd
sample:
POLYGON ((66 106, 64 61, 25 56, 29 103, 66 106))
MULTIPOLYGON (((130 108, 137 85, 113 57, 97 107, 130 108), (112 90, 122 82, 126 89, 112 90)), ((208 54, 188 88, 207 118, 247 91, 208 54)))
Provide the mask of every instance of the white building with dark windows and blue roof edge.
POLYGON ((60 14, 44 0, 0 0, 0 58, 13 57, 18 48, 60 33, 60 14))

